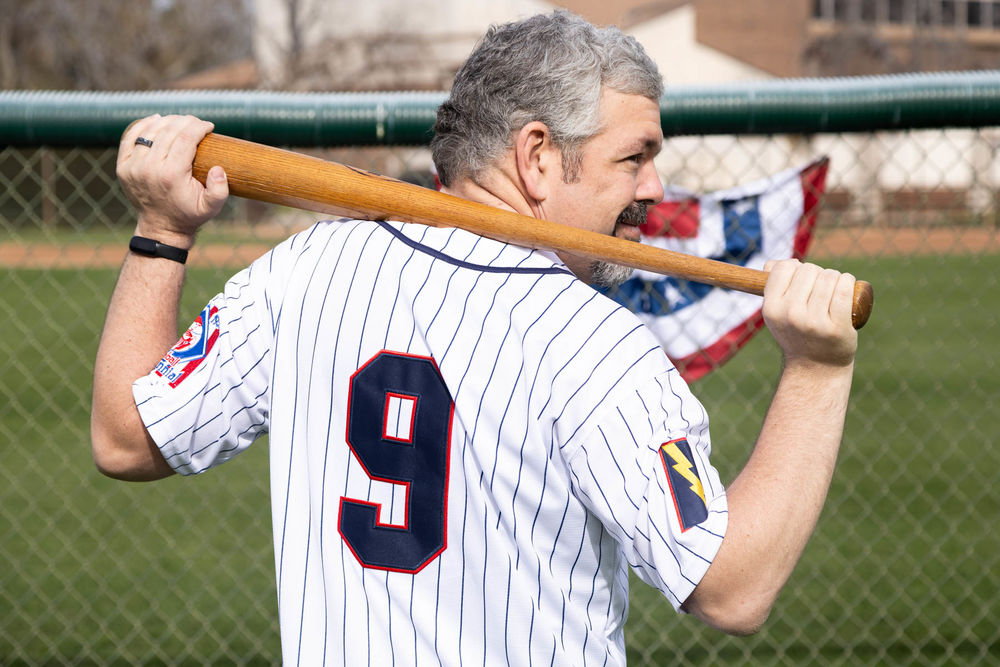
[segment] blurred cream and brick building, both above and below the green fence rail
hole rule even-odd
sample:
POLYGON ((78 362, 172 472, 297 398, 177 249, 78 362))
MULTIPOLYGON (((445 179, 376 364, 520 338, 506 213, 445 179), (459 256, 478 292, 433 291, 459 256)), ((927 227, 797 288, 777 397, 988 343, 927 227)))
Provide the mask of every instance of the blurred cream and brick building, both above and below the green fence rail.
MULTIPOLYGON (((262 88, 444 90, 491 23, 557 7, 634 35, 668 87, 1000 67, 1000 1, 255 2, 262 88)), ((995 213, 998 144, 988 131, 674 138, 658 167, 668 183, 708 190, 827 154, 828 207, 845 213, 838 219, 885 213, 912 222, 929 208, 952 217, 995 213)))

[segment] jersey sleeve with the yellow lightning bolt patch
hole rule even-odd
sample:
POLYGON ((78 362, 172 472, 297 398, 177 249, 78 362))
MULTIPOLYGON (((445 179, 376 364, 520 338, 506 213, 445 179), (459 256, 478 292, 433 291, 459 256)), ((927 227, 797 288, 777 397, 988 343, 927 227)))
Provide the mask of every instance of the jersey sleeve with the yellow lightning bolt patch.
POLYGON ((673 367, 610 403, 569 461, 576 492, 639 578, 679 609, 727 526, 708 415, 673 367))

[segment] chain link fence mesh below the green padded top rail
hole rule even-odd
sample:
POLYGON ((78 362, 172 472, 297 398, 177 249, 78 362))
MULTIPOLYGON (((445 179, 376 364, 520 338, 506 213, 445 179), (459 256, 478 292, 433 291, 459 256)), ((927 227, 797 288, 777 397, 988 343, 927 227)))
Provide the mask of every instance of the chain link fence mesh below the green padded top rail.
MULTIPOLYGON (((809 258, 872 282, 876 305, 826 509, 768 624, 726 637, 636 581, 631 664, 1000 660, 998 146, 997 128, 665 143, 664 182, 700 192, 829 156, 809 258)), ((429 179, 420 148, 311 152, 429 179)), ((0 149, 0 663, 274 664, 266 443, 155 484, 91 462, 93 360, 134 224, 114 162, 0 149)), ((230 202, 192 254, 182 319, 317 217, 230 202)), ((765 332, 693 385, 724 479, 779 364, 765 332)))

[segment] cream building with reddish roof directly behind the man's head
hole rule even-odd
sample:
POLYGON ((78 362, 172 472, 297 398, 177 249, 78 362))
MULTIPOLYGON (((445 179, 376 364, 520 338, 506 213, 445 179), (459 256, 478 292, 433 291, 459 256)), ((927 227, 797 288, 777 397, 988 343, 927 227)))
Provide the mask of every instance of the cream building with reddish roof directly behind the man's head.
POLYGON ((254 50, 265 88, 442 90, 491 23, 557 7, 635 34, 668 81, 769 74, 698 40, 696 6, 677 0, 256 0, 254 50))

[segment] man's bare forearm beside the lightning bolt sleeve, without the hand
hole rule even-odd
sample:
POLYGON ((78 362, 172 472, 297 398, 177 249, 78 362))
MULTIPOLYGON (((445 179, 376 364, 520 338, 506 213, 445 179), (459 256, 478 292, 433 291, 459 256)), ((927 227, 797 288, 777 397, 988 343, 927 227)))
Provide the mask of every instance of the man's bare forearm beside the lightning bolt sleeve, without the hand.
POLYGON ((806 362, 782 373, 750 460, 727 491, 725 539, 688 602, 710 624, 755 631, 791 575, 833 476, 852 372, 853 363, 806 362))

